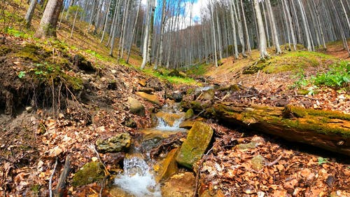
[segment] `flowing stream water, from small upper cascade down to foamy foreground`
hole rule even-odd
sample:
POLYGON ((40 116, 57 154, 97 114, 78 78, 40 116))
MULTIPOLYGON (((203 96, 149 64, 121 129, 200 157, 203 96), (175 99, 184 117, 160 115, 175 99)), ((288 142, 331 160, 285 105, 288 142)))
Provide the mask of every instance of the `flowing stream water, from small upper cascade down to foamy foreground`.
MULTIPOLYGON (((179 113, 177 107, 173 105, 165 105, 162 111, 168 114, 179 113)), ((187 131, 186 129, 179 128, 179 125, 184 119, 183 116, 176 119, 173 125, 169 125, 162 117, 157 118, 158 125, 155 128, 142 131, 145 137, 141 140, 141 147, 134 147, 130 150, 133 154, 124 159, 123 174, 118 175, 114 180, 116 186, 135 197, 162 196, 160 184, 155 181, 153 170, 150 167, 151 159, 149 158, 149 151, 160 144, 162 138, 164 139, 169 137, 169 135, 187 131), (146 151, 146 158, 143 158, 141 154, 137 154, 140 150, 146 151)))

